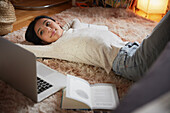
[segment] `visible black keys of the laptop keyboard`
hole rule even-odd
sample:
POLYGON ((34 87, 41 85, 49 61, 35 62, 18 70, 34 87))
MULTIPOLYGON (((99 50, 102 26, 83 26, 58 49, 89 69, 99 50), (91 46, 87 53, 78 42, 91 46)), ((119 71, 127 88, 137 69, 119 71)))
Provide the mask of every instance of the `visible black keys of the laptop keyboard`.
POLYGON ((50 87, 52 87, 52 85, 44 80, 42 80, 41 78, 37 77, 37 90, 38 90, 38 94, 40 94, 41 92, 49 89, 50 87))

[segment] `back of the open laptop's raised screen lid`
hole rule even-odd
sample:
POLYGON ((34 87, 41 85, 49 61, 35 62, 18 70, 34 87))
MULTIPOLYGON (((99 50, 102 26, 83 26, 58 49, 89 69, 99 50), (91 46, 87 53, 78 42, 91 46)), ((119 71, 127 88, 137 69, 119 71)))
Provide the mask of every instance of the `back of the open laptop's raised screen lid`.
POLYGON ((0 51, 0 79, 37 100, 35 55, 2 37, 0 51))

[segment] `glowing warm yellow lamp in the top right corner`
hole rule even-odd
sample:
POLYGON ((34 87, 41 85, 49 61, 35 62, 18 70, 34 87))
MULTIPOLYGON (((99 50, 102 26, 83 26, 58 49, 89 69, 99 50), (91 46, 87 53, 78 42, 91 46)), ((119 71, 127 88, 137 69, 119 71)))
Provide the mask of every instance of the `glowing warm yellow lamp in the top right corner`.
POLYGON ((168 0, 138 0, 137 8, 148 14, 165 14, 168 0))

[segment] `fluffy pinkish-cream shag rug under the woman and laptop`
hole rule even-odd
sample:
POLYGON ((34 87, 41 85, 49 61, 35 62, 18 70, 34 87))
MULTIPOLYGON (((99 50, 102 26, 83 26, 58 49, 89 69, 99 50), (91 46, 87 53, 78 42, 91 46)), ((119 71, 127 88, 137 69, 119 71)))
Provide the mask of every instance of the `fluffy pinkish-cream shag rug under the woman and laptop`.
MULTIPOLYGON (((114 8, 71 8, 59 14, 53 15, 63 25, 70 19, 78 18, 81 22, 89 24, 106 25, 109 30, 120 36, 124 41, 139 41, 148 35, 156 22, 146 20, 127 11, 126 9, 114 8)), ((26 27, 10 33, 4 38, 14 43, 26 43, 24 38, 26 27)), ((111 72, 106 74, 104 69, 91 65, 68 62, 59 59, 38 59, 49 67, 63 73, 71 74, 87 80, 89 83, 113 83, 116 84, 120 99, 127 93, 133 84, 121 76, 111 72)), ((65 113, 65 112, 90 112, 72 111, 60 108, 61 91, 55 93, 40 103, 34 103, 29 98, 16 91, 8 84, 0 80, 0 112, 1 113, 65 113)))

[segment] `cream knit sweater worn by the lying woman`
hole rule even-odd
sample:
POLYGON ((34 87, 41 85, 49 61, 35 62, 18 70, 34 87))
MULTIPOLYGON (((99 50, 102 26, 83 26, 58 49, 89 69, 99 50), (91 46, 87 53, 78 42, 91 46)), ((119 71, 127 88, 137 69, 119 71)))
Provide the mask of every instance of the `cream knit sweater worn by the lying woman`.
POLYGON ((57 58, 102 67, 107 73, 120 48, 126 43, 108 31, 108 27, 81 23, 78 19, 67 23, 64 33, 49 45, 19 46, 36 57, 57 58))

